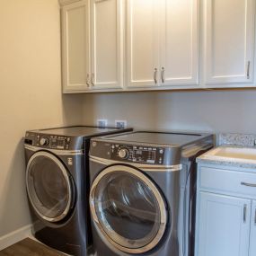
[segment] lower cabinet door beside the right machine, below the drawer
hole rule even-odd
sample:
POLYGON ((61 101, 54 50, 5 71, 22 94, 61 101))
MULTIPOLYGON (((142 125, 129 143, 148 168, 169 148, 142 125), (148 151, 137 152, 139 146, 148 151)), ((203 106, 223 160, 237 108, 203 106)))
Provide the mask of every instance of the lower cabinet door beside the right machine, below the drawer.
POLYGON ((197 256, 248 255, 251 200, 199 192, 197 256))

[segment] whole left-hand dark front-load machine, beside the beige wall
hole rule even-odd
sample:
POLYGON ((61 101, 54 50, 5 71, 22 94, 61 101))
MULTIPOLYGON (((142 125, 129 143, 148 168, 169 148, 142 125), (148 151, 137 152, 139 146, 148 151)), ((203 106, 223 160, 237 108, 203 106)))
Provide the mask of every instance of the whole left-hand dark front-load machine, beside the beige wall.
POLYGON ((131 129, 69 127, 27 131, 26 187, 42 243, 71 255, 89 255, 90 138, 131 129))

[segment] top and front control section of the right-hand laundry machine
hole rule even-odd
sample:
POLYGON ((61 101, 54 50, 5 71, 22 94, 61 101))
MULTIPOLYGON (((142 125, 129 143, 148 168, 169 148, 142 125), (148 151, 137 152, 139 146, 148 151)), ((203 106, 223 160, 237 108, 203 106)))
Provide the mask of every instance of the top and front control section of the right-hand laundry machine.
POLYGON ((91 160, 170 166, 213 146, 213 135, 184 132, 134 131, 91 140, 91 160))

